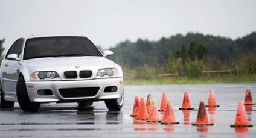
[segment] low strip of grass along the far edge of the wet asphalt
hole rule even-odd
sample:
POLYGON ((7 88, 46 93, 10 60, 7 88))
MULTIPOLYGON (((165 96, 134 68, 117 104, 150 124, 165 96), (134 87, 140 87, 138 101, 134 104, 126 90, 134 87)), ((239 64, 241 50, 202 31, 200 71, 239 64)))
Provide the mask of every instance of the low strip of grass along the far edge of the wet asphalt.
POLYGON ((256 83, 256 74, 249 75, 217 75, 202 76, 198 78, 188 77, 161 77, 150 79, 124 79, 126 85, 145 84, 210 84, 210 83, 256 83))

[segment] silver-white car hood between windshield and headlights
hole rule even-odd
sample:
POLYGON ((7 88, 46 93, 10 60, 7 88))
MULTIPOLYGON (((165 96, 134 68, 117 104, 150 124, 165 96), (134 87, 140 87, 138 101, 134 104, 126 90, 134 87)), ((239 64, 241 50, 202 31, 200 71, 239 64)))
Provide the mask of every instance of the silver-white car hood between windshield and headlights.
POLYGON ((50 57, 24 60, 24 63, 36 71, 70 71, 90 69, 92 71, 112 68, 114 62, 105 57, 50 57))

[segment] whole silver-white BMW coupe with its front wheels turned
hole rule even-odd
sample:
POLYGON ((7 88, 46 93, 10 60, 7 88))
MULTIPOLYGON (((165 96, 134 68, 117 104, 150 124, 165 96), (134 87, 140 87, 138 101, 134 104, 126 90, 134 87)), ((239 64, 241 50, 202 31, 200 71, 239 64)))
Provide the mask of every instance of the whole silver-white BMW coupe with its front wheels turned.
POLYGON ((104 101, 109 110, 123 106, 123 72, 86 37, 29 36, 16 40, 0 68, 1 108, 18 102, 23 111, 41 103, 104 101))

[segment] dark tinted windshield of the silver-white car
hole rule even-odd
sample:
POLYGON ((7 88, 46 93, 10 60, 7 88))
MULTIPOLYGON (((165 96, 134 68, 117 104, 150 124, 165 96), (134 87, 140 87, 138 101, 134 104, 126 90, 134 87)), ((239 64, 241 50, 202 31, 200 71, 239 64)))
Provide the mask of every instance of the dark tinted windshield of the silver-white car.
POLYGON ((24 60, 43 57, 103 55, 86 37, 59 36, 27 39, 24 60))

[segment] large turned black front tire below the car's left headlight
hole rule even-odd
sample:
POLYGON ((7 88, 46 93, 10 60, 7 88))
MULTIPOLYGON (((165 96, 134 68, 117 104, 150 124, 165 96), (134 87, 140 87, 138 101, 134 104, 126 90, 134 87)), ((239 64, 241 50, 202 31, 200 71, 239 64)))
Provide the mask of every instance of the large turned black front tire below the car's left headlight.
POLYGON ((28 112, 36 112, 40 108, 40 103, 36 102, 30 102, 30 99, 28 98, 28 92, 27 92, 27 87, 25 84, 24 77, 21 75, 18 79, 17 82, 17 98, 19 102, 19 107, 23 111, 28 111, 28 112))

